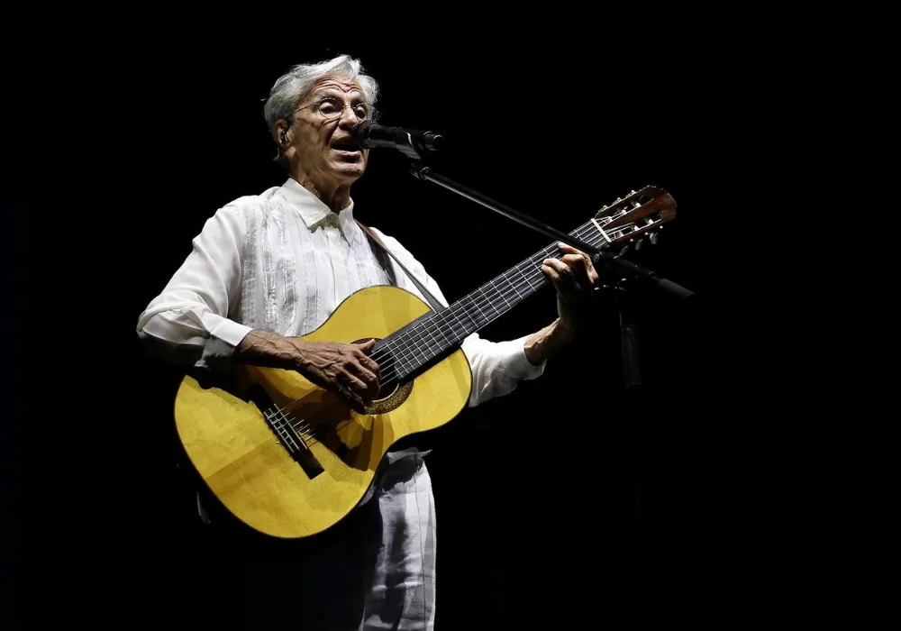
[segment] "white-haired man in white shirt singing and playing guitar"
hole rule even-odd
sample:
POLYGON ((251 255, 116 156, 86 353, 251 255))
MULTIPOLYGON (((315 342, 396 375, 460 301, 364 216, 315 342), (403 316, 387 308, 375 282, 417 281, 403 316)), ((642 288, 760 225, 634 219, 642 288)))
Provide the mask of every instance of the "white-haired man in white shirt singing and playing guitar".
MULTIPOLYGON (((378 85, 347 56, 296 66, 272 87, 264 114, 289 177, 281 187, 220 208, 193 251, 138 322, 148 351, 204 370, 235 363, 297 370, 350 405, 378 392, 372 343, 305 342, 354 291, 396 284, 442 304, 435 281, 395 239, 373 228, 403 267, 383 256, 353 218, 351 185, 369 151, 350 135, 374 116, 378 85)), ((576 334, 597 278, 569 246, 544 261, 558 291, 559 318, 516 340, 472 334, 462 344, 472 369, 470 406, 542 374, 576 334)), ((302 558, 251 559, 248 627, 430 629, 434 623, 435 517, 423 453, 389 453, 372 493, 336 535, 302 558)))

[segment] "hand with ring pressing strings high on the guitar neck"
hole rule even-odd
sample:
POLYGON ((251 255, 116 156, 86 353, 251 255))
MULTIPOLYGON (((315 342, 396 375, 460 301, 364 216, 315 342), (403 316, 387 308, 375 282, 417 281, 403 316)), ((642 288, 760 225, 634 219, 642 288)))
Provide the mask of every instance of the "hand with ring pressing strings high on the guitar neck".
POLYGON ((597 271, 585 252, 566 243, 559 243, 559 246, 564 252, 562 259, 546 259, 542 262, 542 272, 557 289, 559 328, 572 337, 587 327, 597 271))

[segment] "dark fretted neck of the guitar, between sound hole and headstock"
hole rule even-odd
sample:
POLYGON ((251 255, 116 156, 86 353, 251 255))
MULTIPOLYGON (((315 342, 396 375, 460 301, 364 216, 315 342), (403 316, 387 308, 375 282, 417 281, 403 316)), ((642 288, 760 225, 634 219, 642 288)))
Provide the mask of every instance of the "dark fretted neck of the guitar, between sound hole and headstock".
MULTIPOLYGON (((569 233, 594 247, 605 239, 595 224, 587 222, 569 233)), ((535 252, 529 258, 469 292, 446 309, 417 318, 377 344, 391 352, 400 377, 429 365, 448 352, 457 350, 470 334, 490 325, 501 315, 549 284, 542 273, 542 261, 560 259, 557 242, 535 252)))

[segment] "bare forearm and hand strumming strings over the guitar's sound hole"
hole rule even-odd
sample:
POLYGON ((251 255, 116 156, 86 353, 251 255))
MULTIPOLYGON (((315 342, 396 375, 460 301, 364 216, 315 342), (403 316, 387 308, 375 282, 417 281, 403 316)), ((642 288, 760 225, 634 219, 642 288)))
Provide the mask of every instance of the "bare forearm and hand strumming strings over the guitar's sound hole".
POLYGON ((332 391, 358 412, 378 395, 378 363, 369 357, 376 345, 308 342, 253 330, 236 349, 236 359, 269 368, 296 370, 320 388, 332 391))

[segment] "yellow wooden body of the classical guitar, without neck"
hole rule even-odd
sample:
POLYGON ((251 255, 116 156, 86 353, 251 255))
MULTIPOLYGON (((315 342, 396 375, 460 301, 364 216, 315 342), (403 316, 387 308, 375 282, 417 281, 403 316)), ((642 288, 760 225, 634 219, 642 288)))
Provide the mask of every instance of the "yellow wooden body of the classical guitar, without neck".
MULTIPOLYGON (((404 289, 365 288, 301 339, 381 339, 427 311, 404 289)), ((469 361, 457 350, 359 414, 293 370, 241 366, 227 388, 185 377, 175 421, 188 459, 232 515, 265 535, 300 538, 346 517, 392 445, 451 421, 471 387, 469 361), (249 400, 254 386, 265 403, 249 400)))

